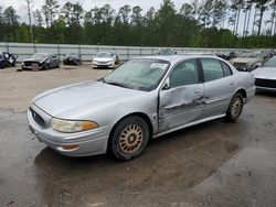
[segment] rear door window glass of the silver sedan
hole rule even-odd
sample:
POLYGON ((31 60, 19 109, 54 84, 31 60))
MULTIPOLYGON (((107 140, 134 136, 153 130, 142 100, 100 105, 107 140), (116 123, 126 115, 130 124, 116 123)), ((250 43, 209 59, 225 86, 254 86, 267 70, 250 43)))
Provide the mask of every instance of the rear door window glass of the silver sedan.
POLYGON ((212 58, 202 58, 201 64, 205 81, 211 81, 224 77, 220 61, 212 58))

